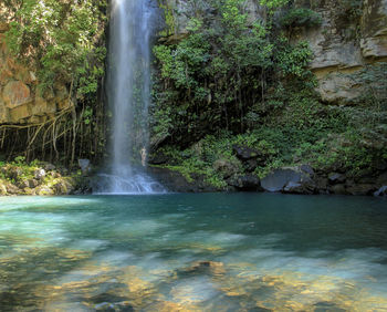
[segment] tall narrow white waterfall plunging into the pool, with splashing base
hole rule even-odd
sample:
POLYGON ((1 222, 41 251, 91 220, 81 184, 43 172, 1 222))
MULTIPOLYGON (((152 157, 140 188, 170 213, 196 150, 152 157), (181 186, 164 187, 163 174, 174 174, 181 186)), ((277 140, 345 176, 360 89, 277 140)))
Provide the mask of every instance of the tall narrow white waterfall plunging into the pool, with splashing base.
POLYGON ((112 0, 106 92, 113 114, 112 155, 109 174, 101 175, 104 193, 163 190, 144 169, 148 148, 150 39, 155 14, 156 6, 151 0, 112 0))

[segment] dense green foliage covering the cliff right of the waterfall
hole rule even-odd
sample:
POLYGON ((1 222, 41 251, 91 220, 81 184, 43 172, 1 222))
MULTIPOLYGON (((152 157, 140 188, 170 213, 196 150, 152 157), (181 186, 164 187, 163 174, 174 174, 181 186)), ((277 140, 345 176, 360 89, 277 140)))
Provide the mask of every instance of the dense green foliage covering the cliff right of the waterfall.
POLYGON ((232 177, 248 174, 233 145, 260 150, 260 177, 305 163, 356 176, 386 158, 387 69, 369 66, 359 75, 368 89, 357 107, 323 104, 307 67, 307 42, 291 43, 283 34, 283 28, 317 27, 321 17, 287 8, 279 29, 274 18, 281 13, 273 12, 289 1, 260 1, 269 10, 265 24, 248 21, 242 2, 212 1, 218 14, 210 21, 194 17, 187 38, 155 46, 160 72, 153 137, 170 159, 167 166, 190 181, 199 175, 226 189, 230 177, 221 165, 232 177))

